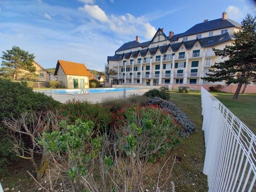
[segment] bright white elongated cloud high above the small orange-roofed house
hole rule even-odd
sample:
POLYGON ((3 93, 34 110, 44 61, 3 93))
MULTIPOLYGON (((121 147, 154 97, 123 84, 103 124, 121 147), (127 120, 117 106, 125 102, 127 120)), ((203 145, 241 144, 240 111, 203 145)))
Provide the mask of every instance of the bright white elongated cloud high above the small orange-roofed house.
POLYGON ((78 8, 81 11, 88 13, 92 18, 97 19, 101 22, 108 22, 106 13, 100 9, 98 5, 84 5, 78 8))

